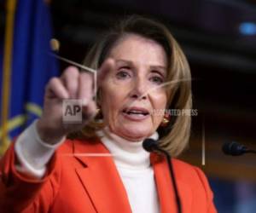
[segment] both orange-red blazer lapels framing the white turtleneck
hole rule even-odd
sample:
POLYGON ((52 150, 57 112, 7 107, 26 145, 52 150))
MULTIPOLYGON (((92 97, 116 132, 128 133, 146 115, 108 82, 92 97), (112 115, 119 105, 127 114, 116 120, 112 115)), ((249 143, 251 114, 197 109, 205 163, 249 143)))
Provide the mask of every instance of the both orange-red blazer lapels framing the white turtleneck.
MULTIPOLYGON (((113 158, 101 141, 74 141, 73 153, 84 168, 76 172, 85 191, 88 193, 96 212, 124 212, 131 213, 128 196, 113 162, 113 158), (85 155, 81 154, 85 153, 85 155)), ((172 180, 164 158, 151 154, 150 162, 154 169, 154 177, 160 201, 160 212, 177 212, 172 180)), ((177 181, 182 204, 191 206, 191 189, 177 181)), ((183 212, 185 212, 183 210, 183 212)))

